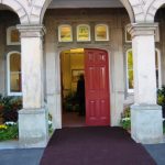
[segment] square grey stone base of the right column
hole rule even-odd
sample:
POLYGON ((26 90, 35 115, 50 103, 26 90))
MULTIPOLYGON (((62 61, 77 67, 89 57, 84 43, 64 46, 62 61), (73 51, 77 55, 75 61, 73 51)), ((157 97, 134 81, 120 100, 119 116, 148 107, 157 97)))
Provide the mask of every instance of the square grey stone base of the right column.
POLYGON ((157 105, 133 105, 131 107, 131 136, 138 143, 162 143, 162 107, 157 105))

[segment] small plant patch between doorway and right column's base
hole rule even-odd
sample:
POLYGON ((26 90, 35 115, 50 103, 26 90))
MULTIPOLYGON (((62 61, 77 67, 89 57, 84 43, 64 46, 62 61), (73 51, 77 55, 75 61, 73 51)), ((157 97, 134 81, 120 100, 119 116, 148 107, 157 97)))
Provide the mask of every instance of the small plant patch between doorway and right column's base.
POLYGON ((130 131, 131 130, 131 113, 130 108, 127 108, 123 113, 121 114, 120 124, 123 129, 130 131))

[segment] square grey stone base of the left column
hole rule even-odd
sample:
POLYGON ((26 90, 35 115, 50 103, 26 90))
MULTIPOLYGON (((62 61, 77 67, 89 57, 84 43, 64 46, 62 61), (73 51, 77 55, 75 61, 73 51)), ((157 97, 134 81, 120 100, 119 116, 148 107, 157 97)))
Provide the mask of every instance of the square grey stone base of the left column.
POLYGON ((48 141, 47 111, 23 109, 19 111, 20 147, 45 147, 48 141))

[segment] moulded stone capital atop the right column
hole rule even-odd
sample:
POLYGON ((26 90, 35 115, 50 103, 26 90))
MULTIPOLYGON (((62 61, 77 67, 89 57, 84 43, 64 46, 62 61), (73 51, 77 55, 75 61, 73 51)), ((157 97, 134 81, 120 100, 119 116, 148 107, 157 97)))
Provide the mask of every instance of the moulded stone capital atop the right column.
POLYGON ((131 23, 127 25, 127 31, 132 37, 141 35, 155 35, 158 23, 131 23))

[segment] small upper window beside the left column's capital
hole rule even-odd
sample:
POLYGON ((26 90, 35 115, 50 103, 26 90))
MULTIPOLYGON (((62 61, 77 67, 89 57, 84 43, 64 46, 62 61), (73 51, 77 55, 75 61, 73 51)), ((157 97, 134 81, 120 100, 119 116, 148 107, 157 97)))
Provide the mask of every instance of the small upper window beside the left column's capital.
POLYGON ((7 29, 7 45, 20 45, 20 32, 15 26, 7 29))

